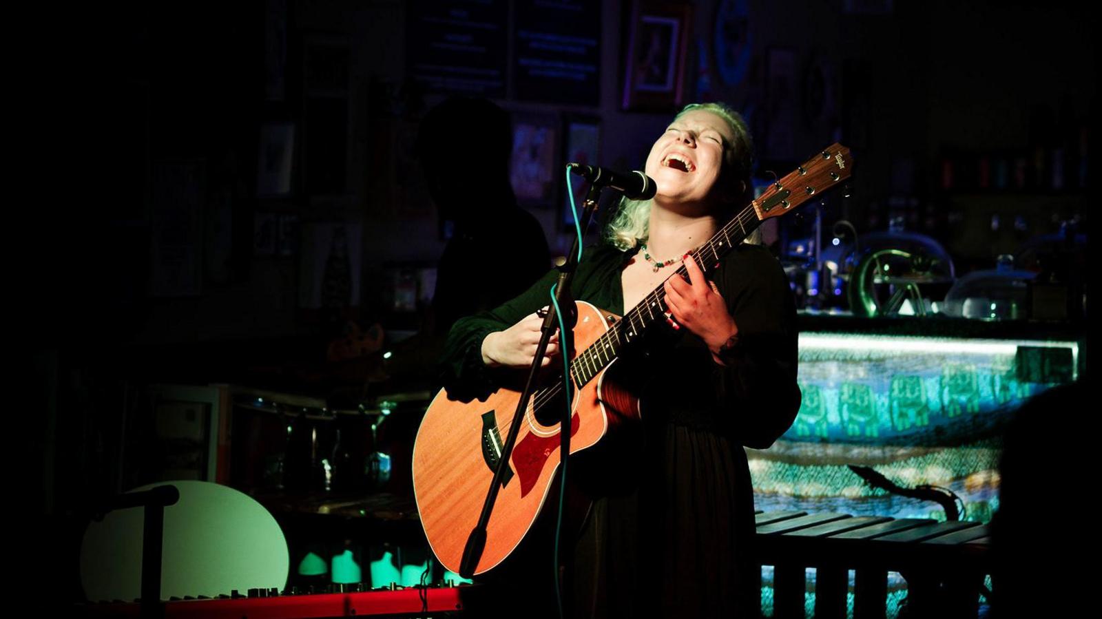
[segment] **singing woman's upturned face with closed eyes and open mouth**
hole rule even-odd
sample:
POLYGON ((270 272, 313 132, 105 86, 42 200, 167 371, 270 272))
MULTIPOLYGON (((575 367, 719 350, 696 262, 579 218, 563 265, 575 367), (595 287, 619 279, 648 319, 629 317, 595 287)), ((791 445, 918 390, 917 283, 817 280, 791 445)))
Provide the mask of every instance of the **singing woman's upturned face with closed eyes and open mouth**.
POLYGON ((710 207, 722 199, 724 159, 735 141, 722 117, 690 110, 673 120, 647 156, 647 175, 658 186, 656 200, 710 207))

